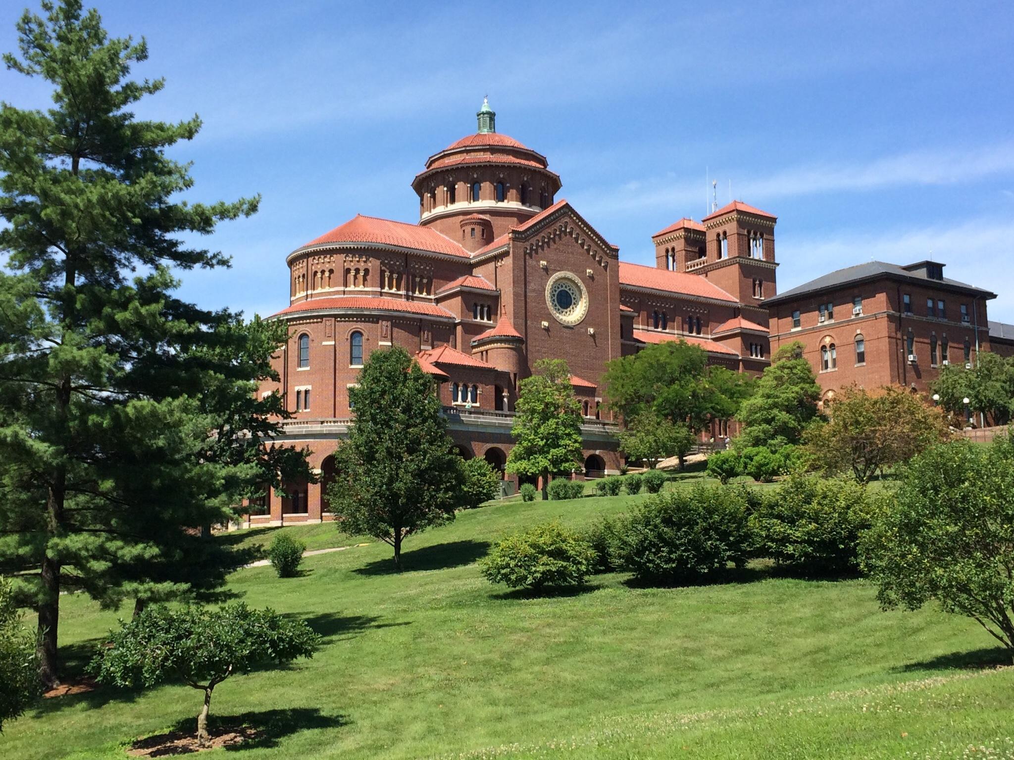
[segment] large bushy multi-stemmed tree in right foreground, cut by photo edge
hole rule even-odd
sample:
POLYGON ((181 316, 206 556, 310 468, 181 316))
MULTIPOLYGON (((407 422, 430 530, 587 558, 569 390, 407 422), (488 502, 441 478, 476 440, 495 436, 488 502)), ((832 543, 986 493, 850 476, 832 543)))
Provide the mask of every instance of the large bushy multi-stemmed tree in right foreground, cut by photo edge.
POLYGON ((1014 441, 935 446, 906 467, 861 541, 885 608, 936 599, 1014 658, 1014 441))

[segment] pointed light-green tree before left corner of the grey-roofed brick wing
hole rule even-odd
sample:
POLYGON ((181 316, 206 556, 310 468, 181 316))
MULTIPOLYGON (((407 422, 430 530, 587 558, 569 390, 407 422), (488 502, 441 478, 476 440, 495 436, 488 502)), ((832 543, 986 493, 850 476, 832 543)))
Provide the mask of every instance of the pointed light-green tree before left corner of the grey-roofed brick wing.
POLYGON ((778 450, 785 444, 799 443, 817 416, 818 400, 820 386, 803 358, 802 344, 783 346, 757 380, 753 395, 739 408, 736 419, 743 431, 736 438, 736 448, 767 446, 778 450))

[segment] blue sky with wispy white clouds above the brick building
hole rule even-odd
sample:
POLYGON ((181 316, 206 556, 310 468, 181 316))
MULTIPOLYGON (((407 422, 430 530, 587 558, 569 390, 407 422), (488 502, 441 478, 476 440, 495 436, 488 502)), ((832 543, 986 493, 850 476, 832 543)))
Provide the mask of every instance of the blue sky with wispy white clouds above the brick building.
MULTIPOLYGON (((23 2, 0 7, 15 48, 23 2)), ((779 217, 779 289, 877 258, 931 255, 999 294, 1014 322, 1014 4, 382 3, 98 0, 144 35, 138 112, 204 130, 195 200, 261 193, 213 245, 227 272, 184 295, 248 314, 286 305, 285 255, 356 213, 416 221, 427 156, 497 129, 545 154, 625 260, 718 200, 779 217)), ((0 97, 48 91, 0 72, 0 97)))

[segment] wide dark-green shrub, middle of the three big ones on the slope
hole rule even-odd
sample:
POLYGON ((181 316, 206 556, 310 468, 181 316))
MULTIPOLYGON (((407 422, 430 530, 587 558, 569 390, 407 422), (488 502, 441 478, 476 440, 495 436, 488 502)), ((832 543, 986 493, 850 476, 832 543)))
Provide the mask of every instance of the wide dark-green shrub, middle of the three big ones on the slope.
POLYGON ((641 580, 695 583, 742 565, 750 544, 742 488, 673 489, 649 499, 617 527, 613 554, 641 580))

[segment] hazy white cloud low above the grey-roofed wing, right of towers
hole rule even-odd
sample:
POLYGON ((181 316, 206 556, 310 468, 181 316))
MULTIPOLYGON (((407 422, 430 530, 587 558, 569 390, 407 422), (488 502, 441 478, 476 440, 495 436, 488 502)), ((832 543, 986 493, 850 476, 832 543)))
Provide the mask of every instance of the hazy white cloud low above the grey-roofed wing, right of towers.
POLYGON ((927 258, 946 264, 944 276, 993 291, 991 319, 1014 322, 1014 221, 975 219, 918 229, 856 232, 835 230, 817 237, 783 235, 778 240, 779 291, 828 272, 869 260, 912 263, 927 258))

